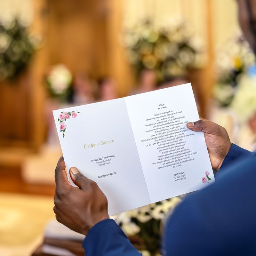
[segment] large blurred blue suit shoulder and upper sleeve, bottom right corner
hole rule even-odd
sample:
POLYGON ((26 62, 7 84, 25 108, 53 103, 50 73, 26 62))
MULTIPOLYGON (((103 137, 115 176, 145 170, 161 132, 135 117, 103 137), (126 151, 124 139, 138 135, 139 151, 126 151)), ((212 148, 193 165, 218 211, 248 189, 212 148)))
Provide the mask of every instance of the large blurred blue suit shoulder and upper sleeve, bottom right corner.
POLYGON ((254 256, 255 171, 256 157, 245 157, 188 196, 167 222, 164 255, 254 256))

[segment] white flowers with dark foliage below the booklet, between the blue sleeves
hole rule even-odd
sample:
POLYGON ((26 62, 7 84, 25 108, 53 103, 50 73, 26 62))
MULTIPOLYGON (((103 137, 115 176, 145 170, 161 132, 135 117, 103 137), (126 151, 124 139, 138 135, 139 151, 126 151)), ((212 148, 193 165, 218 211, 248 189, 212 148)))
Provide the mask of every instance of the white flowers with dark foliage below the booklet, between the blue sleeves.
POLYGON ((112 216, 143 255, 160 255, 161 221, 181 202, 173 197, 112 216))

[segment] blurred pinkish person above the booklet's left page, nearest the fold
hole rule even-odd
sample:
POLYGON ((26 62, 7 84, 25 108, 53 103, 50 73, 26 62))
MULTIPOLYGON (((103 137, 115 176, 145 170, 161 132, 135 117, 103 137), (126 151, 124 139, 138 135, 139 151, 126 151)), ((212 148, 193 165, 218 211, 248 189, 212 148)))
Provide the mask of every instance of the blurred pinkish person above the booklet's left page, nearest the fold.
POLYGON ((116 82, 109 77, 102 78, 98 81, 98 101, 114 100, 117 98, 116 82))

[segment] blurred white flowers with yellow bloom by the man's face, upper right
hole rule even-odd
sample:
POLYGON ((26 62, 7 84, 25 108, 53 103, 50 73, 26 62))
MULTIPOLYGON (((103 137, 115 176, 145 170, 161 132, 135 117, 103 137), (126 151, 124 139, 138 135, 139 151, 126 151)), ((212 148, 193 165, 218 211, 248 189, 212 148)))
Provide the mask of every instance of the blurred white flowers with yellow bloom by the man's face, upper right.
POLYGON ((228 42, 217 55, 217 80, 213 91, 215 100, 221 107, 228 107, 239 86, 239 77, 250 72, 255 57, 243 36, 228 42))

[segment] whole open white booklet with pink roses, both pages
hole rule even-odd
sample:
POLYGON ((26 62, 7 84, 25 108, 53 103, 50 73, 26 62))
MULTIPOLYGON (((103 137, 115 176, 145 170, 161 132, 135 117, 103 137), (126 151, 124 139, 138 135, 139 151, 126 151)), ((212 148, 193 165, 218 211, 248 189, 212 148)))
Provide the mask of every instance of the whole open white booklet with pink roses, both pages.
POLYGON ((191 84, 54 110, 53 116, 67 170, 75 166, 97 182, 109 215, 214 182, 204 134, 186 126, 199 119, 191 84))

